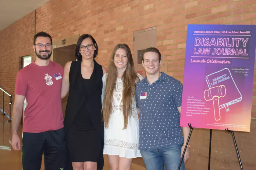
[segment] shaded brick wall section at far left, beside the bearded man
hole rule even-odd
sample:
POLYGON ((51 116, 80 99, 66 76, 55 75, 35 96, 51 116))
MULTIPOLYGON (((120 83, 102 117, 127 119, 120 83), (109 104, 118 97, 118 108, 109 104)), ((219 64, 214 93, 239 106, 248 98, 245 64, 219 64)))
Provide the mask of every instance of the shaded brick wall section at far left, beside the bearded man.
MULTIPOLYGON (((34 12, 31 12, 0 31, 0 87, 11 95, 14 94, 17 71, 20 68, 19 58, 26 55, 34 57, 32 47, 35 31, 34 18, 34 12)), ((9 114, 9 96, 7 94, 4 95, 4 103, 4 111, 9 114)), ((2 91, 0 92, 0 108, 2 108, 2 91)))

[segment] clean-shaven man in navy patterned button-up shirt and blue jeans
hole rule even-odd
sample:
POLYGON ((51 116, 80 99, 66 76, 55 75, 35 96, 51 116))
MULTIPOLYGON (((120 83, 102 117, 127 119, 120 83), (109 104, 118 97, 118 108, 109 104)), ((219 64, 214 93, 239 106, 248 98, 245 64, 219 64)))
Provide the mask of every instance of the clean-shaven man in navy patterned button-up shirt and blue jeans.
MULTIPOLYGON (((142 57, 146 77, 136 85, 140 113, 139 149, 147 170, 177 170, 190 129, 180 125, 182 84, 160 72, 161 53, 147 48, 142 57)), ((138 110, 138 109, 137 109, 138 110)), ((180 170, 189 158, 186 149, 180 170)))

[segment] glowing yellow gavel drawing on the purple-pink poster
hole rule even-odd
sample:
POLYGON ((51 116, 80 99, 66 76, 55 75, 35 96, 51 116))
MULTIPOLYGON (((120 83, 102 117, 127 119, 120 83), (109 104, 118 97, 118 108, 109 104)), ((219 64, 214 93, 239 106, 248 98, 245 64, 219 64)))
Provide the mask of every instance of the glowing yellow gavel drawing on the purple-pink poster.
POLYGON ((224 97, 225 95, 226 95, 226 88, 224 85, 220 85, 218 87, 212 87, 209 90, 205 90, 205 93, 204 93, 205 100, 207 102, 210 100, 213 101, 215 120, 220 120, 219 98, 224 97))

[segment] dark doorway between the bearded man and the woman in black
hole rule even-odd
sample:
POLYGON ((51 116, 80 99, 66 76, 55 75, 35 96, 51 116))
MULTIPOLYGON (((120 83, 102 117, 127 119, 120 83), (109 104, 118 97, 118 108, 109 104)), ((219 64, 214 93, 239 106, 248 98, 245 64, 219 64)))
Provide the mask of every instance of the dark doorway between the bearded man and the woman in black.
MULTIPOLYGON (((67 46, 59 47, 59 48, 54 48, 53 56, 52 56, 52 61, 60 64, 63 68, 65 67, 65 64, 67 62, 76 61, 76 58, 75 58, 75 47, 76 47, 76 44, 67 45, 67 46)), ((65 116, 65 110, 66 110, 68 95, 69 94, 67 94, 62 99, 63 117, 65 116)))

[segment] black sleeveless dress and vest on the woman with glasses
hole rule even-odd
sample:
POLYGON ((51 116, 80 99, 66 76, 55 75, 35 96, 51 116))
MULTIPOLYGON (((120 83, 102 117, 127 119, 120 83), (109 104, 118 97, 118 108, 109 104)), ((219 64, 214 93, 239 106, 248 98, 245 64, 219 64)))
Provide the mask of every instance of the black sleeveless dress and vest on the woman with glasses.
POLYGON ((90 79, 83 79, 81 61, 70 66, 70 91, 64 118, 66 146, 71 162, 97 162, 103 168, 104 124, 101 114, 103 70, 94 60, 90 79))

